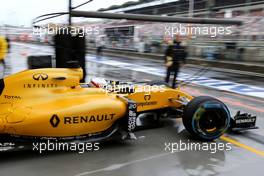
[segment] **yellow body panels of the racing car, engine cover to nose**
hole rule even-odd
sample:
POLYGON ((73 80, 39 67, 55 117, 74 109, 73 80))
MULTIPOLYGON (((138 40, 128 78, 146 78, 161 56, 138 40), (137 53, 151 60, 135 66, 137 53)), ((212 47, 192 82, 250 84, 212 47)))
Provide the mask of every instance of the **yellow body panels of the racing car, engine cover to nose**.
POLYGON ((73 137, 106 131, 125 118, 127 104, 137 111, 180 108, 179 97, 192 97, 179 89, 122 94, 101 88, 83 88, 81 69, 26 70, 2 80, 0 133, 34 137, 73 137))

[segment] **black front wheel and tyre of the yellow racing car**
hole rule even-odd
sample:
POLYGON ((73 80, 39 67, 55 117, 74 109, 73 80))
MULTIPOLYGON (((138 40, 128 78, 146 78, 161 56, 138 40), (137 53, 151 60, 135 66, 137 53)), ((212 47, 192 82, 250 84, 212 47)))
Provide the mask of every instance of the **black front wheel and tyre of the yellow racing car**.
POLYGON ((231 117, 224 103, 212 97, 200 96, 187 104, 182 120, 192 136, 212 141, 227 131, 231 117))

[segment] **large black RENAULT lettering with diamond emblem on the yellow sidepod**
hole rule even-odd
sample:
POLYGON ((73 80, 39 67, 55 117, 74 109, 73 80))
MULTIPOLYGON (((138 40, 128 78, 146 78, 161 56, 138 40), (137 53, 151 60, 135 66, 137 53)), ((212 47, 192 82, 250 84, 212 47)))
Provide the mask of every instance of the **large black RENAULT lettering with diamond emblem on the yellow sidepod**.
POLYGON ((50 118, 50 124, 53 128, 57 128, 61 121, 64 125, 110 121, 114 119, 115 115, 116 114, 101 114, 91 116, 67 116, 60 118, 57 114, 54 114, 50 118))

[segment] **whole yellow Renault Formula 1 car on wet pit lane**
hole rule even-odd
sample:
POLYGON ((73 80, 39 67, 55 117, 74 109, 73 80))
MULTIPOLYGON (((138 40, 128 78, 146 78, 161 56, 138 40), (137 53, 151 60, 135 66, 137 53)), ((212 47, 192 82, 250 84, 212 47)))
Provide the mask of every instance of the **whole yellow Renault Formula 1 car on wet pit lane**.
POLYGON ((200 140, 214 140, 228 128, 251 129, 256 117, 238 114, 211 97, 192 97, 162 83, 80 84, 82 70, 26 70, 0 80, 1 139, 107 139, 115 133, 131 138, 138 117, 174 114, 200 140), (147 88, 146 88, 147 87, 147 88))

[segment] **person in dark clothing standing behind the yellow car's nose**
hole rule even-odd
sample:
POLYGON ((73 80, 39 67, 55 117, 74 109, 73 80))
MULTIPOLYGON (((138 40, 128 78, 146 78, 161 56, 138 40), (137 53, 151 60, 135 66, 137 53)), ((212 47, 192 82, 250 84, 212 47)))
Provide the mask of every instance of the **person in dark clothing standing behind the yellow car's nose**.
POLYGON ((176 79, 180 70, 180 67, 185 63, 187 52, 185 47, 181 46, 180 37, 177 36, 173 41, 172 45, 169 45, 166 52, 166 67, 167 67, 167 76, 166 83, 170 82, 170 77, 173 74, 172 88, 176 88, 176 79))

